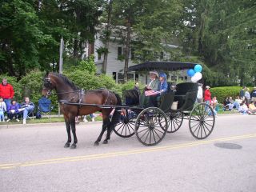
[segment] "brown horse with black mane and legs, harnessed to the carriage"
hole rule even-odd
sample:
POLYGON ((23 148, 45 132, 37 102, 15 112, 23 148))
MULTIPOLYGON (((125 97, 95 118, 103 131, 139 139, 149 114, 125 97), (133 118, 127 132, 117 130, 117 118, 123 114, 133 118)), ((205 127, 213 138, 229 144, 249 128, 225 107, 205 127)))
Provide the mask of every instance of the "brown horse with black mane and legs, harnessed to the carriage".
POLYGON ((78 115, 92 114, 95 111, 102 112, 103 125, 102 132, 94 142, 94 145, 98 146, 98 143, 101 141, 105 130, 107 130, 107 134, 103 143, 106 144, 108 142, 110 139, 110 133, 119 120, 120 112, 118 112, 118 109, 114 110, 113 117, 110 121, 110 113, 113 108, 83 106, 82 104, 121 106, 122 101, 118 94, 114 94, 114 92, 106 89, 80 90, 78 86, 75 86, 73 82, 70 82, 70 80, 62 74, 47 72, 43 78, 43 91, 50 93, 50 90, 56 90, 58 102, 61 103, 61 110, 66 122, 66 132, 68 139, 64 147, 70 146, 70 127, 74 136, 74 142, 70 148, 74 149, 77 146, 78 138, 75 133, 75 117, 78 115), (63 104, 65 102, 72 102, 75 105, 63 104))

